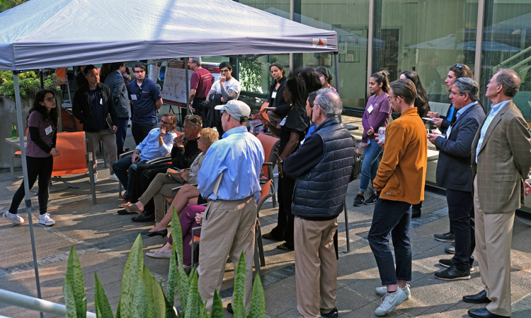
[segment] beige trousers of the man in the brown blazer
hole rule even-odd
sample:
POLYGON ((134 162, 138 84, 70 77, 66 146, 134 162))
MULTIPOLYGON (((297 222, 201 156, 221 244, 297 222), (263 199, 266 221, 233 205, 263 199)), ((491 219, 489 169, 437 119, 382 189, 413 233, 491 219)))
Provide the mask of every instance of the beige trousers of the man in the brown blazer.
POLYGON ((484 213, 474 178, 474 213, 476 216, 476 254, 481 283, 492 300, 486 309, 493 314, 510 316, 510 242, 513 238, 515 211, 484 213))

